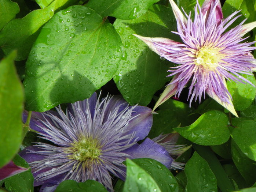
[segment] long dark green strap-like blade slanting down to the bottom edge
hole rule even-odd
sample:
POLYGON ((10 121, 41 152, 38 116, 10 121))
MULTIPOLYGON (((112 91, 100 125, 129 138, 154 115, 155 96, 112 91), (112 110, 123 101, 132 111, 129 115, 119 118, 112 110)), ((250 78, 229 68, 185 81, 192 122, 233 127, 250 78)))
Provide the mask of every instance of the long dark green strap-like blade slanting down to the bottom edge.
POLYGON ((216 176, 217 185, 220 190, 222 192, 234 191, 234 186, 232 185, 231 181, 227 176, 227 173, 223 169, 222 165, 219 162, 219 159, 217 159, 211 148, 198 144, 193 144, 193 148, 202 158, 204 158, 208 162, 212 172, 216 176))

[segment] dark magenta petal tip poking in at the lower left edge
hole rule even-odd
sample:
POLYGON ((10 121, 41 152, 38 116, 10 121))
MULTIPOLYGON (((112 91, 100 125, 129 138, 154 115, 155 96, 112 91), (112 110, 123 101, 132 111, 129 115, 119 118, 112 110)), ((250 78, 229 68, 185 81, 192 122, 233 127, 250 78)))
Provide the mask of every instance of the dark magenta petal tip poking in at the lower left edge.
POLYGON ((5 178, 11 177, 11 176, 14 176, 18 173, 25 172, 28 169, 29 168, 17 166, 17 165, 14 164, 13 161, 10 161, 7 165, 3 166, 0 169, 0 180, 3 180, 5 178))

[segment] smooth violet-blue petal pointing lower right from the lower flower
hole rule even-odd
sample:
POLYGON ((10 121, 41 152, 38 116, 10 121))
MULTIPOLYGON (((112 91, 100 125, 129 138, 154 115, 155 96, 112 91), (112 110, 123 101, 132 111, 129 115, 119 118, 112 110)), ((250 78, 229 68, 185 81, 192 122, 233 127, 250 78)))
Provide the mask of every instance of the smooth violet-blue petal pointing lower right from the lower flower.
POLYGON ((131 159, 136 158, 151 158, 161 162, 167 168, 172 164, 173 159, 160 144, 153 142, 151 139, 146 138, 140 145, 134 145, 131 148, 123 151, 131 155, 131 159))

